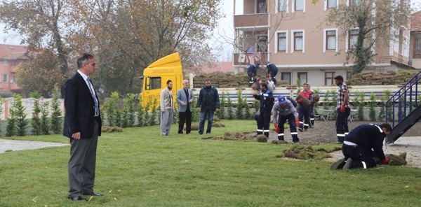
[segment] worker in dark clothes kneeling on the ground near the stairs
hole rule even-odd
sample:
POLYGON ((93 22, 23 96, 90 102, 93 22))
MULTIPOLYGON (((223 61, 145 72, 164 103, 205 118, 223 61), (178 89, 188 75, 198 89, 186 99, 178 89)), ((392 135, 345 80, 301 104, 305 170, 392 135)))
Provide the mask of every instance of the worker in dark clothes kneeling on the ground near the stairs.
POLYGON ((392 133, 390 124, 362 124, 352 129, 345 136, 345 141, 342 145, 342 153, 345 158, 335 162, 335 164, 330 166, 330 170, 373 168, 376 166, 373 156, 377 156, 382 160, 383 164, 387 164, 389 160, 385 157, 385 152, 383 152, 382 148, 383 140, 390 133, 392 133))

